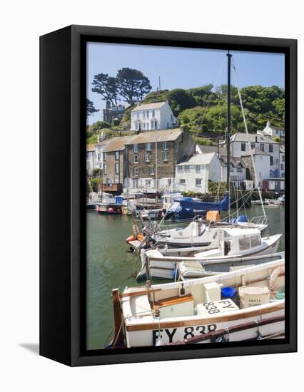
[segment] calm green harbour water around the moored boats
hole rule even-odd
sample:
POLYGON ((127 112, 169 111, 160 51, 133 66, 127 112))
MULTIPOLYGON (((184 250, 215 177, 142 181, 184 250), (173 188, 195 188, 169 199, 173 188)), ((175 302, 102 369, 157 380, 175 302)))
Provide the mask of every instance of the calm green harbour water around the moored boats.
MULTIPOLYGON (((285 207, 266 210, 266 234, 284 234, 285 207)), ((247 210, 248 217, 262 215, 260 206, 247 210)), ((136 254, 127 252, 125 240, 132 234, 131 217, 87 212, 87 348, 103 349, 113 326, 111 291, 136 286, 141 267, 136 254)), ((176 226, 176 225, 175 225, 176 226)), ((140 227, 138 225, 138 227, 140 227)), ((173 226, 172 226, 173 227, 173 226)), ((285 249, 284 235, 278 251, 285 249)))

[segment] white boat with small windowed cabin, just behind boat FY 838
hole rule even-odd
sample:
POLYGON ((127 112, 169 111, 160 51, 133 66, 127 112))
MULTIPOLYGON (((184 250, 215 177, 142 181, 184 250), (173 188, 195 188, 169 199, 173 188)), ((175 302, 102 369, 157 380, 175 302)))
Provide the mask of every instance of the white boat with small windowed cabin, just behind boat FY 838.
MULTIPOLYGON (((257 264, 258 259, 263 255, 278 252, 280 237, 282 234, 261 237, 258 229, 227 228, 218 229, 213 242, 207 247, 201 247, 200 252, 197 252, 196 248, 192 248, 192 257, 174 256, 172 253, 168 256, 168 253, 161 253, 161 249, 142 250, 141 271, 138 272, 137 280, 139 282, 150 277, 173 279, 173 272, 176 270, 178 262, 183 261, 199 262, 203 268, 210 268, 212 265, 218 271, 223 270, 218 269, 223 264, 232 265, 233 262, 242 264, 244 263, 243 259, 248 257, 250 257, 249 264, 257 264), (254 263, 253 258, 255 258, 254 263)), ((167 252, 170 251, 171 249, 167 250, 167 252)), ((190 251, 191 249, 188 248, 188 252, 190 251)), ((245 259, 245 262, 248 262, 248 259, 245 259)))

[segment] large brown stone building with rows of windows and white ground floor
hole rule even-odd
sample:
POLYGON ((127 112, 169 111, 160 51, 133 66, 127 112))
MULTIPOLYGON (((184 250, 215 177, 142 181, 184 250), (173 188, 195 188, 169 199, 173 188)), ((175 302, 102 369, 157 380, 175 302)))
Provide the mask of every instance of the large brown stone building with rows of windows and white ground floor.
POLYGON ((166 190, 173 187, 176 164, 194 155, 196 143, 183 127, 139 133, 126 142, 129 190, 166 190))

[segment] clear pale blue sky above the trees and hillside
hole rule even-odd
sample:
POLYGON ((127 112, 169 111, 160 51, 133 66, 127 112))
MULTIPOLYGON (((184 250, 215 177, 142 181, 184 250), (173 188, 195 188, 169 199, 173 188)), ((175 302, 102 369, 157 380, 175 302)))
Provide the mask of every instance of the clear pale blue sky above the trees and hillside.
MULTIPOLYGON (((91 92, 93 76, 108 73, 116 76, 118 69, 135 68, 150 79, 153 90, 192 88, 213 83, 218 86, 227 80, 227 51, 161 46, 127 45, 120 43, 88 43, 87 97, 92 100, 98 113, 88 117, 88 123, 102 120, 105 101, 91 92)), ((285 87, 284 55, 281 53, 257 53, 232 51, 238 72, 240 87, 261 85, 285 87)), ((231 83, 235 84, 232 73, 231 83)))

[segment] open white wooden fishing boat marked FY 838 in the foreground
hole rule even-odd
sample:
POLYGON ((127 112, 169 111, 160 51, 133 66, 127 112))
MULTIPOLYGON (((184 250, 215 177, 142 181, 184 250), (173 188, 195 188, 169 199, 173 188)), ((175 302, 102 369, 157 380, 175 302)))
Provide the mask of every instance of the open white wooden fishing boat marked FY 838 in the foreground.
POLYGON ((221 330, 233 331, 230 341, 265 339, 285 329, 284 293, 284 260, 186 282, 126 287, 122 294, 114 289, 111 346, 161 346, 221 330), (255 329, 235 329, 254 323, 255 329))

